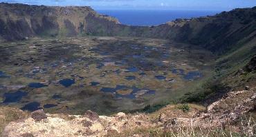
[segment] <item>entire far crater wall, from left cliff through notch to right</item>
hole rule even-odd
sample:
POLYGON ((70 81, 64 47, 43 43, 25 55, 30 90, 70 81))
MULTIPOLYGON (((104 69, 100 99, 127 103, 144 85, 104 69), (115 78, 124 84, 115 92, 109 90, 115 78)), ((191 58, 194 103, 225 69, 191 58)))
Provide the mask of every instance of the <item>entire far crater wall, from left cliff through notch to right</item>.
POLYGON ((192 43, 222 54, 255 41, 255 30, 256 7, 140 27, 122 25, 90 7, 0 3, 0 37, 8 41, 33 36, 138 36, 192 43))

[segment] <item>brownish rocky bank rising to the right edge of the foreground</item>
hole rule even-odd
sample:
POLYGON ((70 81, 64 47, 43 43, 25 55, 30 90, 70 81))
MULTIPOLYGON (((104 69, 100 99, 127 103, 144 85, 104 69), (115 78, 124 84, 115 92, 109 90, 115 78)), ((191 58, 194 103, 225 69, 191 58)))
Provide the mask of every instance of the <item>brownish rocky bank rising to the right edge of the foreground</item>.
POLYGON ((212 103, 205 112, 194 118, 174 118, 166 120, 165 128, 200 127, 202 129, 233 125, 239 118, 256 107, 256 88, 229 92, 219 101, 212 103))

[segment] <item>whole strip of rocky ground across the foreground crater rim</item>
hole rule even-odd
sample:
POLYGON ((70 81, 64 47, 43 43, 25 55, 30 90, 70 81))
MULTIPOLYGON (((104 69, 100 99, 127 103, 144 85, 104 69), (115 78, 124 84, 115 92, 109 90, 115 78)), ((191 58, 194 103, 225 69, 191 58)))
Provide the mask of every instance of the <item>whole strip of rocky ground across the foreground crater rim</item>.
POLYGON ((206 109, 192 104, 188 105, 189 109, 167 105, 152 114, 120 112, 113 116, 98 116, 91 111, 83 116, 67 116, 44 114, 39 110, 28 118, 8 124, 3 136, 150 136, 152 132, 147 133, 147 129, 175 132, 180 128, 201 129, 201 132, 229 128, 246 136, 255 136, 253 122, 249 121, 249 126, 239 124, 242 116, 255 109, 255 103, 256 88, 246 87, 246 90, 229 92, 206 109))

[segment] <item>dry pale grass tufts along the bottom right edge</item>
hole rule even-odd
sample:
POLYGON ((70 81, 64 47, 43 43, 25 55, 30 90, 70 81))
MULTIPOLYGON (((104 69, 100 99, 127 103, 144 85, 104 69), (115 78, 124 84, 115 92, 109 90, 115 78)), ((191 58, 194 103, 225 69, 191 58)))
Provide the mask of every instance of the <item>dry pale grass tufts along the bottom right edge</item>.
POLYGON ((127 129, 121 134, 111 135, 113 137, 125 136, 148 136, 148 137, 238 137, 256 136, 256 123, 250 116, 248 118, 241 118, 237 125, 226 125, 224 127, 211 127, 209 123, 208 128, 193 127, 175 127, 164 129, 162 126, 147 128, 141 127, 139 129, 127 129))

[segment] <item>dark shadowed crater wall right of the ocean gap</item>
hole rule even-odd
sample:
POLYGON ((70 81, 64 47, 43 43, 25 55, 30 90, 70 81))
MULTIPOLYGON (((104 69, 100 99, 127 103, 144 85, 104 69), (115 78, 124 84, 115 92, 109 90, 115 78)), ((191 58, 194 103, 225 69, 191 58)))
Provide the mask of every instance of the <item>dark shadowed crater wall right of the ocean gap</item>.
POLYGON ((256 8, 221 12, 213 17, 177 19, 158 25, 149 36, 202 45, 212 52, 226 52, 255 39, 256 8))

